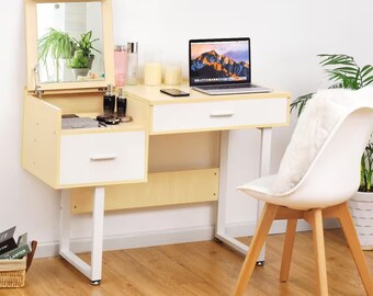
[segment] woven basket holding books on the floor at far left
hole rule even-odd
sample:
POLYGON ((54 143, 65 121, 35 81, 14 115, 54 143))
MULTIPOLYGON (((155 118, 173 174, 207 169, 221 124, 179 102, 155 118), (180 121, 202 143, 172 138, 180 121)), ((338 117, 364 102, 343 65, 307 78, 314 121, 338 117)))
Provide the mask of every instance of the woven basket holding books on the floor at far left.
POLYGON ((26 257, 0 260, 0 288, 23 287, 26 280, 26 257))

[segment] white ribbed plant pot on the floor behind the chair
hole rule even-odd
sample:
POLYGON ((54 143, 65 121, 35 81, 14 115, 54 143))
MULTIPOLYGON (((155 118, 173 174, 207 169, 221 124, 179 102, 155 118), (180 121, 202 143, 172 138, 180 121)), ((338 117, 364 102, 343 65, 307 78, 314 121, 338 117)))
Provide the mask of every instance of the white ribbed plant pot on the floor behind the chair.
POLYGON ((349 201, 361 248, 373 250, 373 192, 357 192, 349 201))

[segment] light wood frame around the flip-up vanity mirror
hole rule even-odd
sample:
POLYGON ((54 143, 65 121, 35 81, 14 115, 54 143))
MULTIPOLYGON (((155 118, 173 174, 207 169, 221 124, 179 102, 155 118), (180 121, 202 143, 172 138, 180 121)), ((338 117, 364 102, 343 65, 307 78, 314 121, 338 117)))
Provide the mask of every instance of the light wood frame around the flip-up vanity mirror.
POLYGON ((27 56, 27 90, 35 91, 35 66, 37 65, 37 15, 38 3, 101 2, 103 61, 105 78, 94 81, 38 83, 41 91, 105 88, 114 82, 114 44, 111 0, 24 0, 27 56))

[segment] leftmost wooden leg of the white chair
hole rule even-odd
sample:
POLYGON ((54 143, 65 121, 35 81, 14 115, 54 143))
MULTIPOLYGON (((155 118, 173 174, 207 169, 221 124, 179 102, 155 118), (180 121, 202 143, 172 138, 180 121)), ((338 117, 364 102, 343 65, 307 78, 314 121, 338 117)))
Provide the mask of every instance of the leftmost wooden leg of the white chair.
POLYGON ((256 262, 258 255, 263 247, 268 232, 271 228, 275 214, 278 213, 279 206, 265 203, 263 207, 263 212, 261 214, 258 227, 251 240, 249 251, 245 258, 244 265, 239 273, 238 282, 236 285, 235 294, 236 296, 244 295, 247 283, 249 282, 253 267, 256 266, 256 262))

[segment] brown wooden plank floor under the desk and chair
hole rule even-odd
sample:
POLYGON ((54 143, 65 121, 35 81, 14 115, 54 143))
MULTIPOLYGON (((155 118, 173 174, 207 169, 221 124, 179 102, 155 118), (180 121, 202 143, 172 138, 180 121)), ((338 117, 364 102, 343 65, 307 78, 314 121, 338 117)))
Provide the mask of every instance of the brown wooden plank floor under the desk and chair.
MULTIPOLYGON (((283 235, 269 237, 265 264, 256 267, 246 295, 316 295, 310 232, 296 236, 287 283, 279 282, 283 239, 283 235)), ((326 231, 326 247, 329 295, 365 295, 339 229, 326 231)), ((373 273, 373 251, 366 251, 365 257, 373 273)), ((63 259, 36 259, 26 286, 0 289, 0 295, 231 295, 242 261, 215 241, 109 251, 103 255, 102 283, 92 286, 63 259)))

